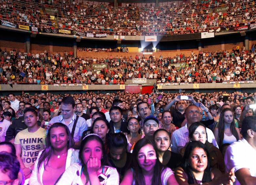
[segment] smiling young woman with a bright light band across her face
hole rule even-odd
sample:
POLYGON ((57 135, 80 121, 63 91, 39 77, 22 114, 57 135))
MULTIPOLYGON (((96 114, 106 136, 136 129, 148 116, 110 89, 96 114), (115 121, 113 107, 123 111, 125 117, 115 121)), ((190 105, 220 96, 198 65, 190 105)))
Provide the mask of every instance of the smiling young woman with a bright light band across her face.
POLYGON ((178 185, 173 171, 160 163, 157 149, 148 139, 140 139, 135 144, 132 164, 121 185, 178 185))

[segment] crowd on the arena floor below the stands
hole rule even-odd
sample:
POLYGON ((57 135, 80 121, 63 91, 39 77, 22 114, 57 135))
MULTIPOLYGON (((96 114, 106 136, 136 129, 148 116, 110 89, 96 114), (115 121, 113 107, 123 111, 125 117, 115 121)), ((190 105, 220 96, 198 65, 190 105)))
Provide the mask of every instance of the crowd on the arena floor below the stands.
POLYGON ((11 93, 0 102, 0 182, 254 184, 255 101, 237 91, 11 93))

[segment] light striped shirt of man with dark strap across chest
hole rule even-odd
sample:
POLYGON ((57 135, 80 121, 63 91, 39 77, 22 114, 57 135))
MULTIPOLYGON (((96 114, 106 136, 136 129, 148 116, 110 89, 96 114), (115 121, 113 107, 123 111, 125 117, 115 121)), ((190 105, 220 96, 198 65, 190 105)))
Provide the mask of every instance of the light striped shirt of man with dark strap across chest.
MULTIPOLYGON (((61 122, 65 125, 68 126, 69 131, 72 132, 72 128, 74 125, 76 119, 76 115, 74 114, 72 117, 72 120, 70 121, 70 123, 67 125, 65 123, 65 120, 63 119, 62 115, 56 116, 54 117, 49 123, 56 123, 56 122, 61 122)), ((75 133, 74 133, 74 141, 78 142, 80 140, 80 137, 82 137, 83 131, 87 130, 87 123, 86 120, 82 117, 79 117, 75 126, 75 133)))

